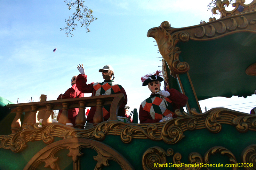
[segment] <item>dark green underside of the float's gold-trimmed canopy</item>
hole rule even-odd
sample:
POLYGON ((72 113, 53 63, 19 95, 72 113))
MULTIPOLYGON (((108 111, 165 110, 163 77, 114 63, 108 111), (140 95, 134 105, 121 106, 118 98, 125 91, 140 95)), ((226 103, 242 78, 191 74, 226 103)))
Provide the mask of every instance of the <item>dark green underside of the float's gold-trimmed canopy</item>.
MULTIPOLYGON (((211 97, 247 97, 256 89, 256 77, 245 70, 256 63, 256 34, 234 33, 211 41, 179 42, 180 61, 189 75, 198 100, 211 97)), ((172 79, 176 81, 176 79, 172 79)))

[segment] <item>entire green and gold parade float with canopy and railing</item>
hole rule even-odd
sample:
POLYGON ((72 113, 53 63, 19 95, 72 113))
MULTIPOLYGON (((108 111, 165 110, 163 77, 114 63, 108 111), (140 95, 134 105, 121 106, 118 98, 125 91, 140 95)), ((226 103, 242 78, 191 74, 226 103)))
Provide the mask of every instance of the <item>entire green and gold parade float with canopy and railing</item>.
POLYGON ((198 102, 246 97, 256 89, 256 0, 237 0, 232 11, 224 5, 228 1, 217 0, 212 10, 220 11, 219 19, 184 28, 164 21, 148 30, 163 56, 166 88, 188 96, 188 113, 177 109, 170 121, 138 124, 117 121, 123 94, 21 104, 3 100, 0 169, 255 170, 256 115, 220 107, 203 113, 198 102), (102 122, 106 105, 110 120, 102 122), (84 109, 93 106, 95 126, 85 130, 84 109), (79 108, 76 128, 66 125, 69 108, 79 108), (57 109, 61 118, 52 123, 57 109), (42 127, 37 111, 45 111, 42 127))

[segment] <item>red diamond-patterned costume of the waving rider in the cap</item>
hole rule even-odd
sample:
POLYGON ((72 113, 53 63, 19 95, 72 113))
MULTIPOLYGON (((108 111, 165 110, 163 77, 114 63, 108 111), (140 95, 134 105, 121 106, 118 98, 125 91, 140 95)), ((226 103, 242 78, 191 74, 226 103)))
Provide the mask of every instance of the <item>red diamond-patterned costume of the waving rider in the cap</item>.
MULTIPOLYGON (((83 93, 92 93, 92 96, 100 96, 102 94, 118 94, 123 93, 124 94, 124 102, 120 105, 118 110, 118 116, 125 116, 124 108, 127 104, 127 95, 124 90, 124 88, 121 85, 115 84, 113 80, 105 80, 102 83, 87 83, 87 76, 85 74, 79 74, 76 78, 76 85, 78 90, 80 90, 83 93)), ((109 115, 109 109, 110 107, 103 107, 103 116, 104 121, 107 121, 110 117, 109 115)), ((93 116, 95 114, 96 107, 91 107, 90 112, 86 118, 87 122, 93 123, 93 116)))

